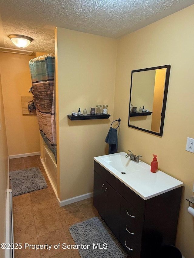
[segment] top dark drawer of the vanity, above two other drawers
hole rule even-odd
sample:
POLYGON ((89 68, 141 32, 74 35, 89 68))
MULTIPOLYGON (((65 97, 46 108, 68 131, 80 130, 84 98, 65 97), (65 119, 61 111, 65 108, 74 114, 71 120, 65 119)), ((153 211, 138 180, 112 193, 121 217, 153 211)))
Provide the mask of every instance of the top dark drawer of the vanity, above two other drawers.
MULTIPOLYGON (((133 232, 141 232, 144 224, 144 213, 142 210, 135 209, 124 198, 121 199, 121 221, 133 232)), ((130 231, 129 230, 129 231, 130 231)))

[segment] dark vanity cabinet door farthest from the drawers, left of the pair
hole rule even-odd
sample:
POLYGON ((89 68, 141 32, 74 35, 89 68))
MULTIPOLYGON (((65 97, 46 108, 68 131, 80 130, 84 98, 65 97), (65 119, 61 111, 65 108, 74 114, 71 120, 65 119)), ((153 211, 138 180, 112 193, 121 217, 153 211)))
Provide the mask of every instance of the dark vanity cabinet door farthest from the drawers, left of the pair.
POLYGON ((105 219, 105 180, 94 171, 94 207, 105 219))

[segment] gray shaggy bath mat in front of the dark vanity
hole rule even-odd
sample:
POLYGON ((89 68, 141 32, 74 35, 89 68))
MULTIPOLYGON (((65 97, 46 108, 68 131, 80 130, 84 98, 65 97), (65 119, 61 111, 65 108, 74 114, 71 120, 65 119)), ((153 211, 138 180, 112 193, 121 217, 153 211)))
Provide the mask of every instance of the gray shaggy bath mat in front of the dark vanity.
POLYGON ((81 248, 78 248, 78 251, 82 258, 126 258, 129 256, 104 220, 99 217, 74 224, 69 228, 69 232, 75 244, 80 245, 81 248))

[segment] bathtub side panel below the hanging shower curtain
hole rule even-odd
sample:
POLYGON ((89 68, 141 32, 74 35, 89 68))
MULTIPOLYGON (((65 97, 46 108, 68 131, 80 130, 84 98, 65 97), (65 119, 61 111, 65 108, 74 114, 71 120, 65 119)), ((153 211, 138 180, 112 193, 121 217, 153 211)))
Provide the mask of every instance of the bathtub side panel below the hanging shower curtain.
POLYGON ((46 174, 52 185, 52 188, 55 191, 55 194, 57 195, 57 164, 56 164, 55 156, 45 143, 42 143, 42 145, 43 145, 43 158, 41 158, 42 165, 44 166, 46 174))

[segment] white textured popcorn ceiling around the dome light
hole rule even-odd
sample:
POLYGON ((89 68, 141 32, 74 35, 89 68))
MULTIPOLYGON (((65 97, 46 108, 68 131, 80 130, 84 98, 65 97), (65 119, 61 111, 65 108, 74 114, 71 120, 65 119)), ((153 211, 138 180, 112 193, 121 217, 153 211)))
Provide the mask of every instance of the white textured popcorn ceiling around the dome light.
POLYGON ((1 0, 0 47, 9 34, 34 39, 25 50, 54 51, 55 27, 119 38, 194 4, 194 0, 1 0))

